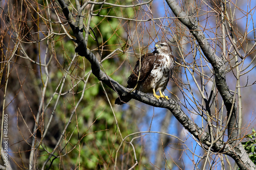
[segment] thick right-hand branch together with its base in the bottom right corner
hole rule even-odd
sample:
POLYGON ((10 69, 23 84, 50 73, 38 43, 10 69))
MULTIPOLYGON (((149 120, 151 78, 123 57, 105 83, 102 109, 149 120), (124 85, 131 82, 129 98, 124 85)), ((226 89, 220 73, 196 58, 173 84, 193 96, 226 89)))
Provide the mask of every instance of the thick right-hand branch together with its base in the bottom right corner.
POLYGON ((238 136, 238 124, 236 117, 237 106, 235 104, 233 95, 231 94, 226 83, 224 68, 225 65, 223 60, 214 53, 214 50, 208 43, 203 31, 201 31, 200 29, 196 17, 191 18, 190 16, 186 15, 186 13, 180 8, 175 0, 166 0, 166 2, 170 9, 172 9, 176 17, 189 29, 190 33, 197 39, 197 42, 200 45, 203 54, 214 68, 216 86, 222 96, 223 102, 227 109, 227 116, 230 117, 230 121, 227 123, 228 137, 230 142, 224 145, 225 147, 223 148, 223 150, 219 150, 220 148, 217 147, 217 145, 214 145, 212 148, 215 150, 215 152, 223 152, 231 146, 230 152, 226 152, 225 154, 231 156, 239 165, 240 169, 255 169, 256 166, 245 153, 242 144, 233 142, 236 141, 233 139, 236 139, 238 136))

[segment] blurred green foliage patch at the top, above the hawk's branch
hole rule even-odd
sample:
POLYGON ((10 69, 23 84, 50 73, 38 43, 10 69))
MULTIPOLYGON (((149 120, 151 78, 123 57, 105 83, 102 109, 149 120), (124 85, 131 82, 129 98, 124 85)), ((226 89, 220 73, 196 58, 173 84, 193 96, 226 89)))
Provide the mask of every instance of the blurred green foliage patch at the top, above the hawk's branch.
MULTIPOLYGON (((109 1, 109 3, 116 4, 116 1, 109 1)), ((108 5, 95 6, 94 13, 124 18, 132 18, 135 15, 133 8, 115 8, 108 5)), ((104 50, 112 51, 116 49, 116 46, 120 48, 127 41, 126 25, 127 21, 118 18, 92 17, 91 28, 93 31, 90 30, 90 34, 98 40, 100 46, 104 46, 104 50)), ((88 39, 88 46, 90 49, 98 47, 97 42, 92 38, 88 39)))

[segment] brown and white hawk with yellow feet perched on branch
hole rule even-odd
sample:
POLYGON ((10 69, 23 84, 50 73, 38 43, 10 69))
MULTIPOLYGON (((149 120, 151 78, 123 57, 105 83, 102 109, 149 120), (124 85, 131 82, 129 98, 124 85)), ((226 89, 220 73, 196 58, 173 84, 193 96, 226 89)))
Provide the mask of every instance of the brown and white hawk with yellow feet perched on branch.
MULTIPOLYGON (((127 88, 134 88, 139 81, 136 89, 144 93, 153 93, 157 98, 164 98, 168 100, 168 96, 163 94, 167 83, 172 76, 174 68, 174 56, 172 55, 172 48, 166 41, 158 41, 155 44, 155 51, 153 53, 145 54, 141 57, 141 61, 137 61, 133 73, 128 78, 127 88), (139 64, 141 62, 141 69, 139 64), (159 91, 160 96, 156 94, 159 91)), ((115 104, 122 105, 131 100, 126 96, 119 96, 115 104)))

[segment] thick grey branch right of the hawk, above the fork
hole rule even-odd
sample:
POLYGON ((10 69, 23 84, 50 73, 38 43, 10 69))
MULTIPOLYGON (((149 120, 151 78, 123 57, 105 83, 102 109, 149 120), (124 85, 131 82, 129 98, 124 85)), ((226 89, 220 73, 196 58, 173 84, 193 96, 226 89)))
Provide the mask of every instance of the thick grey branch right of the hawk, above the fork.
POLYGON ((201 28, 198 25, 196 17, 190 17, 186 15, 186 13, 180 8, 180 6, 175 0, 166 0, 166 2, 170 9, 172 9, 173 13, 178 17, 178 19, 189 29, 190 33, 197 39, 197 42, 202 49, 202 52, 204 53, 205 57, 208 59, 208 61, 214 68, 216 86, 226 106, 227 115, 229 116, 229 114, 232 114, 228 127, 229 139, 236 138, 238 133, 238 130, 236 129, 237 106, 234 106, 233 109, 231 109, 232 106, 234 105, 233 95, 231 94, 226 83, 224 61, 221 58, 219 58, 215 54, 214 50, 211 48, 203 31, 201 31, 201 28))

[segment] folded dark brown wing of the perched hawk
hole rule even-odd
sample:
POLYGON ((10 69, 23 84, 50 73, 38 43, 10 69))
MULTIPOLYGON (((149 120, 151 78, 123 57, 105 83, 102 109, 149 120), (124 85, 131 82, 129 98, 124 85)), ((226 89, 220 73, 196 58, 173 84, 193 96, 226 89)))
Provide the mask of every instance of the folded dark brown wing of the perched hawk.
MULTIPOLYGON (((146 78, 150 75, 150 72, 153 68, 154 62, 155 62, 156 56, 153 53, 145 54, 141 57, 141 69, 140 69, 140 78, 139 83, 143 83, 146 78)), ((134 88, 138 81, 138 75, 139 75, 139 67, 140 67, 140 61, 138 60, 135 68, 133 70, 133 73, 128 78, 127 81, 127 87, 128 88, 134 88)))

